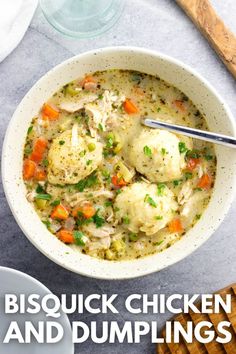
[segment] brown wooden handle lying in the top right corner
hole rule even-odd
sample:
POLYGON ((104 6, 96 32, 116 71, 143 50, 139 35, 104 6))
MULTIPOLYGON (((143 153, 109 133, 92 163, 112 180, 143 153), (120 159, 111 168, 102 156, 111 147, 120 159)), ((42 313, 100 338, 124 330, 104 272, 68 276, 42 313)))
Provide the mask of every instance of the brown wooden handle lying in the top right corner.
POLYGON ((216 14, 209 0, 176 0, 200 29, 236 78, 236 36, 216 14))

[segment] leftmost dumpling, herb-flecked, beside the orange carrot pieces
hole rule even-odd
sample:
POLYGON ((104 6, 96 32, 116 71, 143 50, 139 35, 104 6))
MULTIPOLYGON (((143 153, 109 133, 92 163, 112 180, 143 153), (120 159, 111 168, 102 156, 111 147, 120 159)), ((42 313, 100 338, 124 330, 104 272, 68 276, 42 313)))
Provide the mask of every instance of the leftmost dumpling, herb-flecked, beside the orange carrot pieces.
POLYGON ((48 181, 75 184, 90 175, 102 161, 102 144, 95 138, 79 136, 74 125, 52 142, 48 152, 48 181))

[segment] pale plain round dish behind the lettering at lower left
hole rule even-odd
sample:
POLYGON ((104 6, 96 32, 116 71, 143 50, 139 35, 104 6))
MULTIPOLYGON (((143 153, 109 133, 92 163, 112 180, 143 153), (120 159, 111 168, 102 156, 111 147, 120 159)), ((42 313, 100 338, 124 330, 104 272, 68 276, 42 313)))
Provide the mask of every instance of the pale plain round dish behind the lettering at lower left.
MULTIPOLYGON (((16 313, 16 314, 5 314, 4 312, 4 298, 6 294, 14 294, 18 298, 24 294, 26 299, 31 294, 37 294, 42 299, 45 295, 51 294, 51 291, 46 288, 38 280, 30 277, 29 275, 19 272, 18 270, 0 267, 0 316, 1 316, 1 326, 0 326, 0 353, 7 354, 58 354, 74 353, 74 344, 72 343, 72 331, 70 326, 70 321, 65 313, 60 311, 61 316, 59 318, 47 317, 43 310, 40 310, 37 314, 30 313, 16 313), (37 328, 39 321, 46 323, 49 321, 55 321, 60 324, 64 329, 64 336, 62 340, 58 343, 47 344, 47 343, 37 343, 37 341, 32 340, 28 344, 19 344, 17 341, 10 341, 8 344, 3 344, 3 339, 7 333, 11 321, 16 321, 19 328, 22 330, 26 321, 30 321, 37 328)), ((24 331, 22 331, 24 333, 24 331)))

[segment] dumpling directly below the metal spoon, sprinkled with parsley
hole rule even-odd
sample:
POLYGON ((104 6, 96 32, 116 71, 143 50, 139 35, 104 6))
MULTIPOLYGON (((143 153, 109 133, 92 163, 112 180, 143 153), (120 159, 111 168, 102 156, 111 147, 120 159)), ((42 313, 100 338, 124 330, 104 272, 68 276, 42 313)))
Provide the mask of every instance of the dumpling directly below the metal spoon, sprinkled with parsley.
POLYGON ((192 140, 165 130, 143 129, 130 142, 129 162, 152 182, 167 182, 181 177, 186 163, 179 151, 182 142, 192 149, 192 140))

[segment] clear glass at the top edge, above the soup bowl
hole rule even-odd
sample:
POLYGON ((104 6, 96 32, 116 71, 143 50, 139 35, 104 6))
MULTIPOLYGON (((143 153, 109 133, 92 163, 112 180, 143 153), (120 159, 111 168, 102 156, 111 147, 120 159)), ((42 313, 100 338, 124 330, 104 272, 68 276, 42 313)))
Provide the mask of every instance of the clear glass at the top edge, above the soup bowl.
POLYGON ((48 22, 75 38, 95 37, 119 19, 125 0, 40 0, 48 22))

